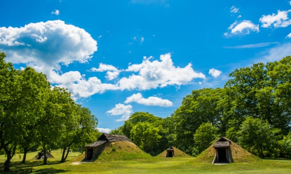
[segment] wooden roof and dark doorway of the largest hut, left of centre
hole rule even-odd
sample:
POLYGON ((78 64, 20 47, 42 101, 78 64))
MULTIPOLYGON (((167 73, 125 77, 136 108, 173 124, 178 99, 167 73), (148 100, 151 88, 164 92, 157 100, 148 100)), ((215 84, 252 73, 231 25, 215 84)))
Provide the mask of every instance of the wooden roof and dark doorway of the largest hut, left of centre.
POLYGON ((132 142, 128 137, 124 135, 111 135, 103 133, 96 142, 85 145, 85 160, 92 160, 95 156, 102 152, 103 146, 106 142, 128 141, 132 142))

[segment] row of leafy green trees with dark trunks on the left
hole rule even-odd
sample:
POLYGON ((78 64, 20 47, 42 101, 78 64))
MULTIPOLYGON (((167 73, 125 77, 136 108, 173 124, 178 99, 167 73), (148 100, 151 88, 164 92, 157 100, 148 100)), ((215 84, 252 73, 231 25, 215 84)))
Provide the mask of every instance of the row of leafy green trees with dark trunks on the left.
MULTIPOLYGON (((5 62, 0 53, 0 151, 7 160, 4 171, 9 171, 10 160, 16 151, 26 153, 32 148, 63 149, 62 162, 68 152, 82 150, 100 135, 98 120, 88 110, 76 104, 63 88, 51 89, 46 75, 27 67, 16 70, 5 62)), ((36 155, 36 154, 35 154, 36 155)))

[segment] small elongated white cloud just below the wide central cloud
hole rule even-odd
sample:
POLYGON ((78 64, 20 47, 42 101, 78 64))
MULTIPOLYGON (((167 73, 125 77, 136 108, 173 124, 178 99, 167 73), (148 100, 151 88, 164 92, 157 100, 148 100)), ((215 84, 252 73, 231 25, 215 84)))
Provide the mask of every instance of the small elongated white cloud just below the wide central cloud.
POLYGON ((149 105, 149 106, 163 106, 170 107, 173 103, 167 99, 161 99, 159 97, 149 97, 143 98, 140 93, 133 94, 132 96, 126 98, 124 103, 137 102, 139 104, 149 105))

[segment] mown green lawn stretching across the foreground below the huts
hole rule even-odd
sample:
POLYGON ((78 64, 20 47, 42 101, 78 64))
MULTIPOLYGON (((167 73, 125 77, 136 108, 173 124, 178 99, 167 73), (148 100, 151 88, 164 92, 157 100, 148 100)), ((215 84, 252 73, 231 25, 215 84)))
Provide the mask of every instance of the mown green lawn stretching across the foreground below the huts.
MULTIPOLYGON (((97 161, 73 165, 72 159, 78 153, 70 153, 65 163, 59 163, 61 150, 56 150, 52 151, 55 158, 48 159, 48 165, 42 165, 42 161, 32 160, 35 154, 29 153, 26 164, 21 164, 19 158, 13 158, 9 173, 26 173, 31 168, 32 173, 291 173, 291 160, 213 165, 195 163, 193 157, 149 157, 143 160, 97 161)), ((0 156, 0 165, 3 166, 3 163, 4 155, 0 156)))

